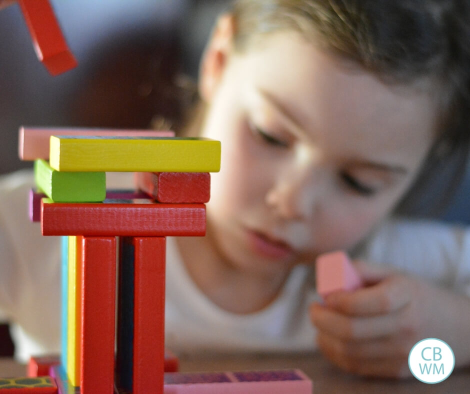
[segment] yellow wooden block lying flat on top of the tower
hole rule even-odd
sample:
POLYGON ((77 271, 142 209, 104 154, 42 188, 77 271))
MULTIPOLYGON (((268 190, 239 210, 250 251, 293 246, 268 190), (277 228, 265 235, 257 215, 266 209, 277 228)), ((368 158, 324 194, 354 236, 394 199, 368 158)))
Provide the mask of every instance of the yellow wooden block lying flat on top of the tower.
POLYGON ((220 141, 208 138, 51 136, 60 171, 216 172, 220 141))

